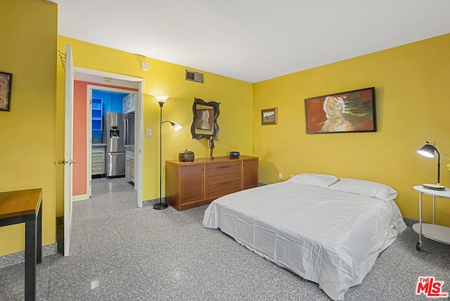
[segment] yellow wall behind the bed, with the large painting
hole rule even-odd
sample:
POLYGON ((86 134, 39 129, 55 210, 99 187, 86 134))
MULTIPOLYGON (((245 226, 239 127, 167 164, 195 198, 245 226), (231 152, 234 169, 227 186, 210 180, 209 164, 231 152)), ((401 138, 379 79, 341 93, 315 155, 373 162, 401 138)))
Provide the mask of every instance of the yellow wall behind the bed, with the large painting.
MULTIPOLYGON (((441 183, 450 186, 450 34, 296 72, 254 85, 254 147, 260 181, 301 172, 379 181, 395 188, 404 217, 418 219, 412 186, 433 183, 437 159, 416 150, 436 141, 441 183), (305 134, 304 98, 375 87, 378 132, 305 134), (278 107, 278 125, 260 123, 278 107)), ((299 54, 301 55, 301 54, 299 54)), ((431 218, 430 198, 423 205, 431 218)), ((437 201, 437 223, 450 226, 450 202, 437 201)))

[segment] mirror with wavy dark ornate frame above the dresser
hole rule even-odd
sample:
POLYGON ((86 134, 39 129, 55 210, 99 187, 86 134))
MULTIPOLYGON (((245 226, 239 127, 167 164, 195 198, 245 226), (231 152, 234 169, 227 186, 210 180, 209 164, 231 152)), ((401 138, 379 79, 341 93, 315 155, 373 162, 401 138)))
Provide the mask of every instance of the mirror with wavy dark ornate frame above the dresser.
POLYGON ((192 139, 219 139, 219 126, 217 117, 219 117, 219 104, 215 101, 206 103, 203 99, 194 98, 192 111, 194 113, 191 126, 192 139))

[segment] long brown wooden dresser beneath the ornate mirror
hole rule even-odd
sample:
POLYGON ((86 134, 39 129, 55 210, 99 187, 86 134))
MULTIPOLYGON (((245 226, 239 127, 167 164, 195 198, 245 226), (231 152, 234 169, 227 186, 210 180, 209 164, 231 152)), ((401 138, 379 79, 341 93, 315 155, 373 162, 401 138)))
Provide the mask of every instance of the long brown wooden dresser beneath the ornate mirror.
POLYGON ((166 200, 176 210, 209 204, 226 194, 258 186, 258 158, 166 161, 166 200))

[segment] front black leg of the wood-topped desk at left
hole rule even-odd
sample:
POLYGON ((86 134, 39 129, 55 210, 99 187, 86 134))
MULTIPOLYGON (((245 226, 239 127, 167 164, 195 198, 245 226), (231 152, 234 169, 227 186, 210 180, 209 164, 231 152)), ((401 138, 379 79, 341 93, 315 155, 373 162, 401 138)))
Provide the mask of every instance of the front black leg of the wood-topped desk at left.
POLYGON ((25 222, 25 301, 36 299, 36 222, 25 222))

